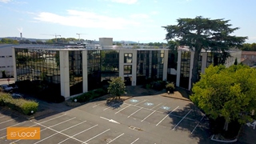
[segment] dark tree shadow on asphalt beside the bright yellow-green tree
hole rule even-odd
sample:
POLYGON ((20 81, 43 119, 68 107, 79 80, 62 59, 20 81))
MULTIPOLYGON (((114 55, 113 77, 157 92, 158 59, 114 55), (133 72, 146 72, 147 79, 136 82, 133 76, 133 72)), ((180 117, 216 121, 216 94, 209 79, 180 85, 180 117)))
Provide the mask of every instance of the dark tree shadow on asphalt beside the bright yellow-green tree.
POLYGON ((217 143, 210 140, 211 131, 209 119, 193 103, 189 103, 182 109, 168 110, 170 130, 188 132, 190 138, 198 139, 198 143, 217 143))

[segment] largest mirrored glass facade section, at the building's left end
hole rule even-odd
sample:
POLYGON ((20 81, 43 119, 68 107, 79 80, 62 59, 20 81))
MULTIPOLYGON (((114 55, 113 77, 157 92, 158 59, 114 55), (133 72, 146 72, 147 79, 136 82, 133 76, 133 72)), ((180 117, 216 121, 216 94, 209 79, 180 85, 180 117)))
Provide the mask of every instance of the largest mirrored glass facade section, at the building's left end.
MULTIPOLYGON (((22 92, 60 95, 59 52, 15 48, 17 83, 22 92), (23 84, 23 83, 26 84, 23 84)), ((49 96, 49 95, 48 95, 49 96)))

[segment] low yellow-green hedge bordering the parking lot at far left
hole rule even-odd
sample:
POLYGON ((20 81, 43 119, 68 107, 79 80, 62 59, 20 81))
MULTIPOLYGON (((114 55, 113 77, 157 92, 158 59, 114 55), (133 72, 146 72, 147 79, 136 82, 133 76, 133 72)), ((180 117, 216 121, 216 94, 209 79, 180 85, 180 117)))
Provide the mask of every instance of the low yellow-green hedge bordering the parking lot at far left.
POLYGON ((38 102, 22 98, 14 99, 10 94, 0 94, 0 106, 8 106, 10 109, 26 115, 34 114, 38 110, 38 102))

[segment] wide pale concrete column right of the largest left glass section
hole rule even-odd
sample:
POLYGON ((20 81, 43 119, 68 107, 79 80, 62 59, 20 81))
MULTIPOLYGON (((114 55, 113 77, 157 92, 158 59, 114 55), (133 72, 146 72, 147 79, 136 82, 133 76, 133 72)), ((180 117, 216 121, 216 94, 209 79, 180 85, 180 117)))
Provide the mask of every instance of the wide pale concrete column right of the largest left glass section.
POLYGON ((70 97, 69 51, 59 51, 59 61, 61 71, 61 94, 68 99, 70 97))

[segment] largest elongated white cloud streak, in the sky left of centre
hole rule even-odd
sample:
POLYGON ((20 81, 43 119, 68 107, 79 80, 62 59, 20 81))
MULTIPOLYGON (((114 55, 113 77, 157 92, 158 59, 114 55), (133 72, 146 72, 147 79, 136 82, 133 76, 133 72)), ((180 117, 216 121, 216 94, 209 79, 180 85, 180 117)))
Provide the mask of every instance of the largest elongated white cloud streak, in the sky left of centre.
POLYGON ((67 15, 42 12, 34 19, 40 22, 50 22, 65 26, 77 26, 85 28, 126 29, 130 26, 138 26, 140 23, 126 18, 114 18, 106 15, 95 14, 87 11, 67 10, 67 15))

